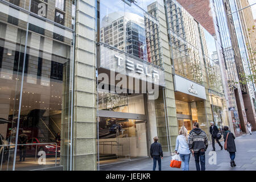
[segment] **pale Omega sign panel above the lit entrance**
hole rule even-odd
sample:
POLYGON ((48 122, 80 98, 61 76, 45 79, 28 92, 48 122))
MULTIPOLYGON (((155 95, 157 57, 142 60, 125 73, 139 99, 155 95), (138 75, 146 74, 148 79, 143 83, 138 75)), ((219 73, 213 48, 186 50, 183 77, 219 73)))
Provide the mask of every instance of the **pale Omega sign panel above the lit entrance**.
POLYGON ((205 87, 186 78, 174 75, 175 91, 206 100, 205 87))

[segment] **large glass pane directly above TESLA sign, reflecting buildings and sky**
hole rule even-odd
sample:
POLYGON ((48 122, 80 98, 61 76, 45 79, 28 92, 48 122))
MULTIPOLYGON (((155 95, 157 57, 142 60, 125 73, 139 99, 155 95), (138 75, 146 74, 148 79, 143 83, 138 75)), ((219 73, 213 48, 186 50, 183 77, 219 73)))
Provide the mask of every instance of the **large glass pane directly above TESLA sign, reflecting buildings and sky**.
POLYGON ((144 11, 134 3, 129 6, 123 1, 100 3, 98 40, 162 67, 159 22, 152 13, 156 10, 144 11))

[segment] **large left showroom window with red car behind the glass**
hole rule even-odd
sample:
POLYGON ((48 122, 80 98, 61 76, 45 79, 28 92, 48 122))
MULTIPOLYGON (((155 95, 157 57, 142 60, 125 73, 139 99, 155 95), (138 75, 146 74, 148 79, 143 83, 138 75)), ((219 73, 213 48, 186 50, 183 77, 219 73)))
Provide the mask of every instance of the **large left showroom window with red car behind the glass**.
POLYGON ((27 7, 28 1, 10 1, 38 14, 33 16, 1 3, 9 12, 0 12, 1 170, 68 169, 73 31, 48 21, 55 15, 44 2, 32 0, 27 7))

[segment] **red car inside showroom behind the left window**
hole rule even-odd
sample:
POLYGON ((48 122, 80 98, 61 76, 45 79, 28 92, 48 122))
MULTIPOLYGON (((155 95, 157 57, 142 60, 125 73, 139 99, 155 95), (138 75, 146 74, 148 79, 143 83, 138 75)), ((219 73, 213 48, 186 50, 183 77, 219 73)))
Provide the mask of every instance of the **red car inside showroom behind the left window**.
MULTIPOLYGON (((39 151, 46 152, 46 156, 55 156, 56 154, 56 145, 55 144, 40 144, 40 143, 51 143, 44 141, 43 138, 31 138, 27 141, 27 143, 39 143, 39 144, 31 144, 26 147, 26 155, 27 156, 39 156, 39 151)), ((60 156, 60 146, 57 143, 57 156, 60 156)))

